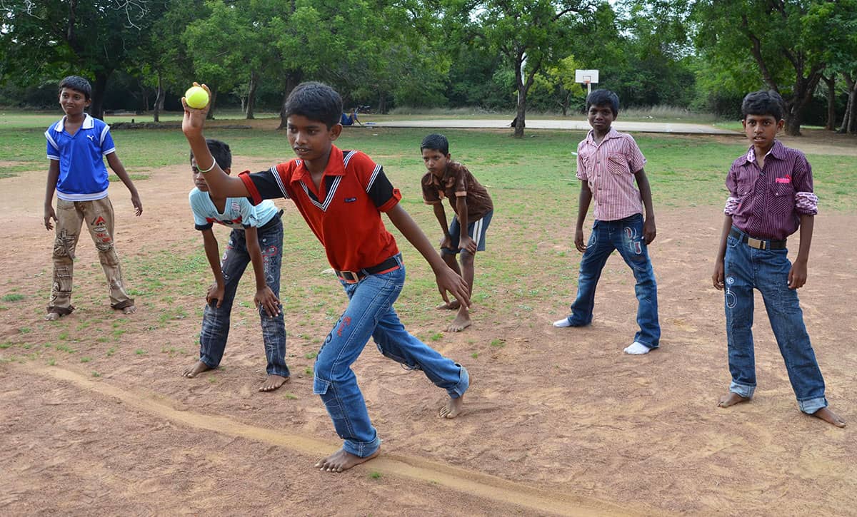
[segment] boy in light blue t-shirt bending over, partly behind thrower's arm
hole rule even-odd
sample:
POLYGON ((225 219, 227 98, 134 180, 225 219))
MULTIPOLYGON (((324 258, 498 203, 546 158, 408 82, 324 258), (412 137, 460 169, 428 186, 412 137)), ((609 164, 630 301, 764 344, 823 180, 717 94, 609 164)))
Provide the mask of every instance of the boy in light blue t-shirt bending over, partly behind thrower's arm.
MULTIPOLYGON (((208 151, 225 174, 231 173, 232 153, 220 140, 206 140, 208 151)), ((206 294, 200 332, 200 360, 184 369, 184 377, 196 377, 203 371, 217 368, 223 358, 229 338, 229 317, 238 282, 247 264, 253 264, 256 294, 253 299, 259 311, 262 341, 267 357, 267 378, 259 391, 273 391, 289 380, 285 365, 285 323, 279 305, 279 270, 283 256, 283 211, 273 201, 250 205, 247 198, 227 198, 208 190, 205 174, 199 169, 194 153, 190 153, 190 169, 195 188, 189 193, 194 212, 195 228, 202 232, 208 264, 214 273, 214 283, 206 294), (213 223, 232 229, 229 244, 220 261, 213 223)))

